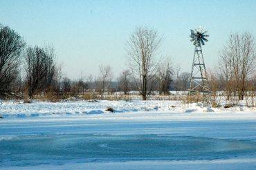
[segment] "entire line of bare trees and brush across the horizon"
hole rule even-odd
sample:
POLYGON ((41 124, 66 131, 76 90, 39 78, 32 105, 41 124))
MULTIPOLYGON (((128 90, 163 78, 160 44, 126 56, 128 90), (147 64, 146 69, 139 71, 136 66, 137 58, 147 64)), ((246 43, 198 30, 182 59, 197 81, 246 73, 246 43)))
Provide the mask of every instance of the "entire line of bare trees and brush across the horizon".
MULTIPOLYGON (((15 30, 0 25, 0 97, 22 95, 80 95, 86 92, 109 94, 138 91, 143 100, 153 91, 169 95, 170 90, 186 91, 190 73, 180 73, 170 59, 160 56, 163 42, 156 30, 137 28, 127 41, 127 69, 113 79, 111 66, 100 65, 98 77, 89 75, 72 81, 62 76, 53 46, 26 46, 15 30), (160 59, 159 59, 160 58, 160 59)), ((246 91, 255 91, 255 41, 253 35, 232 34, 219 55, 219 68, 210 74, 215 91, 243 100, 246 91)))

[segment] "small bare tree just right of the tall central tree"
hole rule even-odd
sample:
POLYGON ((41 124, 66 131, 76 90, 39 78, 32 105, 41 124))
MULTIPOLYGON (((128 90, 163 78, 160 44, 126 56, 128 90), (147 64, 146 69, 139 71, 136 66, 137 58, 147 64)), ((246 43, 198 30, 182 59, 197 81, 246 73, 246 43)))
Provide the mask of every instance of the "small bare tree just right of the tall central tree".
POLYGON ((163 59, 161 64, 159 64, 157 71, 158 88, 160 95, 170 95, 172 75, 172 66, 169 59, 163 59))

